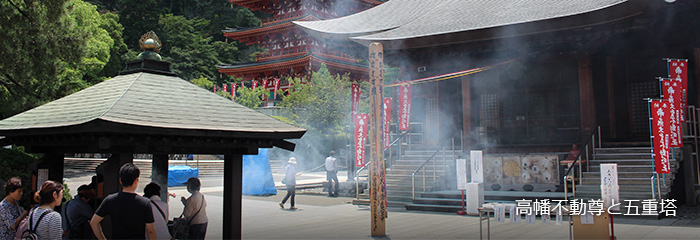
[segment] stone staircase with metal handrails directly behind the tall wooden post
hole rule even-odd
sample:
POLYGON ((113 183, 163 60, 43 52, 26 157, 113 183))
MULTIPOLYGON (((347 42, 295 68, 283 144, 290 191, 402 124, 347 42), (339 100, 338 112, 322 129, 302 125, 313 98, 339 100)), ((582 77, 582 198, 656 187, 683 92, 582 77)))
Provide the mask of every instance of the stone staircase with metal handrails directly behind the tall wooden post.
MULTIPOLYGON (((438 150, 407 150, 401 156, 401 160, 394 160, 393 165, 386 170, 386 191, 389 206, 402 207, 413 201, 411 174, 418 169, 427 159, 438 150)), ((445 163, 443 164, 443 151, 435 154, 433 159, 426 164, 425 169, 425 192, 435 190, 436 180, 440 180, 445 175, 445 169, 454 170, 454 157, 452 150, 445 150, 445 163), (435 163, 433 165, 433 163, 435 163), (445 167, 445 165, 447 167, 445 167), (433 171, 435 169, 436 171, 433 171), (435 177, 433 177, 435 172, 435 177)), ((388 164, 387 164, 388 165, 388 164)), ((369 167, 368 167, 369 168, 369 167)), ((359 174, 360 182, 368 182, 369 169, 365 169, 359 174)), ((423 193, 423 170, 416 174, 416 197, 423 193)), ((369 205, 369 194, 367 191, 360 194, 360 199, 353 201, 355 205, 369 205)))

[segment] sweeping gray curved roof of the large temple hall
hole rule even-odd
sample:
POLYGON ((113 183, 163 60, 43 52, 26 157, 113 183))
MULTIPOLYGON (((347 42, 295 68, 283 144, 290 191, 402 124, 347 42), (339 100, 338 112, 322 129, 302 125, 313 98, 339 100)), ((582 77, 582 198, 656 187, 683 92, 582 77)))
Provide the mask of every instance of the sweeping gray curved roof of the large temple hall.
POLYGON ((401 41, 564 18, 629 2, 632 1, 392 0, 343 18, 295 24, 324 37, 349 37, 368 44, 372 41, 401 41))

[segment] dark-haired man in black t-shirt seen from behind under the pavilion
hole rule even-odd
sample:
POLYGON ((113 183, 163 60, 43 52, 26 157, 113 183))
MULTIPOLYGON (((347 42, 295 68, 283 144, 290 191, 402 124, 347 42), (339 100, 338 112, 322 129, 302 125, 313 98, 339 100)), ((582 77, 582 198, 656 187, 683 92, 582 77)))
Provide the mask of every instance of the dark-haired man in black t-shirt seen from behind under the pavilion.
POLYGON ((119 169, 121 192, 107 196, 90 220, 95 236, 105 239, 100 222, 106 216, 112 218, 112 237, 115 239, 156 239, 151 202, 136 194, 141 172, 134 164, 126 163, 119 169))

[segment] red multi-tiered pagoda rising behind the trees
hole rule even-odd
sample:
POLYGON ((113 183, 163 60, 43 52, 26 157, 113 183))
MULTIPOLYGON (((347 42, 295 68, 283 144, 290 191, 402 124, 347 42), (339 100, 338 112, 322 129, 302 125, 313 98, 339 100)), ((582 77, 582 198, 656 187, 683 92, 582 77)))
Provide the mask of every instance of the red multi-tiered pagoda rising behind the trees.
POLYGON ((268 89, 279 78, 280 89, 289 87, 286 78, 306 77, 325 63, 332 74, 350 74, 350 79, 367 79, 367 65, 358 59, 329 47, 328 43, 306 34, 294 21, 331 19, 360 12, 382 3, 377 0, 230 0, 231 3, 263 11, 270 17, 261 19, 258 27, 223 30, 224 36, 246 45, 258 44, 267 49, 255 62, 224 64, 219 72, 244 82, 263 80, 268 89))

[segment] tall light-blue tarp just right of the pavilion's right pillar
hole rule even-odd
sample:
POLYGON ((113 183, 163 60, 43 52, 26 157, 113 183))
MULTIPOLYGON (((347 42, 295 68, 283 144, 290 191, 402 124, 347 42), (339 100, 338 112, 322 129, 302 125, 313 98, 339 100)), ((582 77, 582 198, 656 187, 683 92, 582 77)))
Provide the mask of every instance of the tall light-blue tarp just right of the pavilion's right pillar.
POLYGON ((258 149, 258 155, 243 155, 243 194, 277 194, 270 168, 269 149, 258 149))

